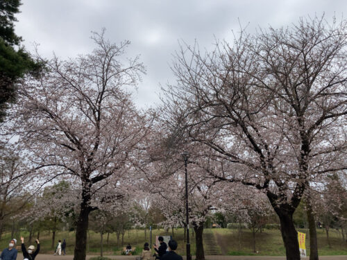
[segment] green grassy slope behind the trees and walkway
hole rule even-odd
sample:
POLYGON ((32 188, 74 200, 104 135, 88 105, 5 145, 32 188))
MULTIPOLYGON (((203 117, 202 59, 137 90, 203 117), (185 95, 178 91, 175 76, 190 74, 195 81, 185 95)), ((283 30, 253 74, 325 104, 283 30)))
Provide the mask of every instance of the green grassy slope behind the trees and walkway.
MULTIPOLYGON (((299 229, 299 231, 308 233, 307 229, 299 229)), ((217 241, 221 246, 221 251, 223 254, 228 255, 254 255, 252 246, 252 234, 248 230, 243 230, 241 233, 241 239, 239 232, 236 229, 213 229, 214 234, 217 237, 217 241)), ((319 244, 319 254, 320 255, 347 255, 347 243, 343 242, 341 235, 337 232, 330 231, 330 243, 331 248, 328 247, 328 242, 325 237, 325 232, 322 229, 317 231, 318 234, 318 244, 319 244)), ((154 229, 152 236, 152 243, 155 243, 156 235, 171 235, 171 231, 166 233, 163 229, 154 229)), ((18 243, 20 243, 20 236, 25 237, 26 245, 28 245, 28 233, 21 232, 17 238, 18 243)), ((67 254, 74 253, 74 232, 57 232, 56 242, 58 239, 67 240, 67 254)), ((183 241, 183 229, 174 230, 174 239, 178 241, 178 253, 185 254, 185 242, 183 241)), ((195 237, 191 236, 191 246, 192 254, 195 254, 195 237)), ((10 234, 4 234, 0 241, 1 250, 6 248, 8 241, 10 240, 10 234)), ((104 254, 105 255, 117 255, 121 254, 122 245, 117 245, 117 236, 115 234, 110 234, 109 243, 107 245, 107 234, 104 235, 104 254)), ((141 252, 144 242, 149 242, 149 232, 146 234, 146 239, 144 239, 144 230, 131 230, 126 232, 124 236, 124 246, 128 243, 132 247, 136 247, 135 254, 141 252)), ((42 253, 53 254, 53 249, 51 249, 51 234, 49 232, 44 232, 40 234, 40 243, 42 248, 42 253)), ((121 243, 121 241, 120 241, 121 243)), ((265 229, 262 233, 257 233, 256 235, 256 249, 258 254, 256 255, 269 255, 269 256, 282 256, 285 255, 285 248, 283 246, 282 237, 279 230, 268 230, 265 229)), ((307 252, 310 252, 309 239, 306 239, 307 252)), ((87 254, 100 254, 100 234, 89 232, 88 243, 87 243, 87 254)))

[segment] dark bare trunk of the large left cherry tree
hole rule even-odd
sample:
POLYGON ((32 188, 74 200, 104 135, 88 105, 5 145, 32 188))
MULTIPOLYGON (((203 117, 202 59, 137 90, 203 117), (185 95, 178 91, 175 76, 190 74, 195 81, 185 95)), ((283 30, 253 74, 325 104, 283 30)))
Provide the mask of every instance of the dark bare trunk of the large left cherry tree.
POLYGON ((81 203, 81 211, 76 223, 76 243, 74 251, 74 260, 85 260, 85 251, 87 249, 87 230, 90 208, 87 205, 88 200, 81 203))

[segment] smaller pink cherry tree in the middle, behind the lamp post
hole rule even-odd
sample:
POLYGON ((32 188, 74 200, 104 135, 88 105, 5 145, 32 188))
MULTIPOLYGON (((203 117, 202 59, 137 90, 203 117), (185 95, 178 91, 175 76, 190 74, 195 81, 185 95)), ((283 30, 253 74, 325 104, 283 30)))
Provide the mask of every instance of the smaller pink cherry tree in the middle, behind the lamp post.
MULTIPOLYGON (((149 188, 149 192, 153 193, 153 203, 162 210, 162 214, 165 216, 165 220, 161 225, 173 228, 187 225, 185 220, 185 175, 182 156, 180 153, 175 155, 173 152, 176 145, 181 145, 180 141, 176 140, 174 142, 175 145, 172 146, 171 142, 167 142, 167 140, 167 136, 164 135, 162 142, 164 142, 163 146, 166 147, 164 149, 166 153, 160 153, 162 155, 161 160, 153 161, 155 170, 152 169, 152 171, 147 173, 146 176, 149 177, 149 182, 146 184, 146 187, 149 188), (169 146, 167 146, 168 144, 169 146), (171 153, 167 149, 171 150, 171 153)), ((264 203, 257 203, 260 201, 260 198, 264 198, 264 194, 261 192, 253 194, 252 189, 242 189, 244 188, 243 185, 237 183, 230 187, 226 182, 217 180, 212 175, 206 173, 206 171, 212 171, 211 168, 214 168, 214 171, 217 171, 217 169, 221 171, 221 167, 214 165, 216 162, 210 159, 205 150, 201 149, 201 145, 196 144, 189 148, 188 224, 192 225, 195 232, 196 259, 203 260, 205 259, 203 249, 205 221, 208 218, 212 218, 216 211, 237 212, 238 214, 242 212, 242 216, 246 216, 244 209, 246 209, 246 205, 250 204, 249 200, 252 198, 254 205, 257 205, 254 211, 257 210, 259 214, 262 214, 266 207, 262 208, 264 203)))

